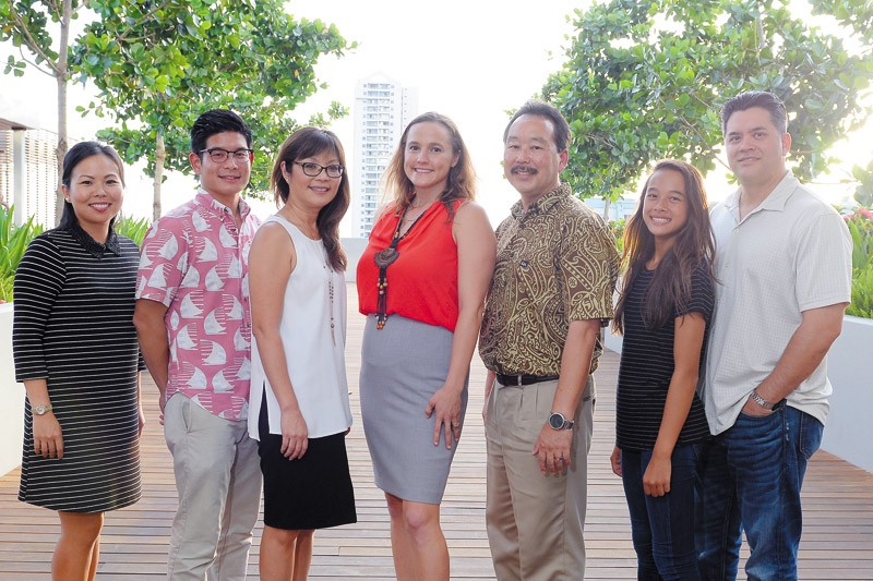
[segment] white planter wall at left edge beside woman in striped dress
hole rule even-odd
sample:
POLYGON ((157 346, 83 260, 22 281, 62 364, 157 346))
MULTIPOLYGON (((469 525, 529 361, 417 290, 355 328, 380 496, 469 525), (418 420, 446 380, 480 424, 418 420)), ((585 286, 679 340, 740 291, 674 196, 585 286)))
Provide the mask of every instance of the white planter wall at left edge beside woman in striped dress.
POLYGON ((24 385, 12 362, 12 304, 0 304, 0 475, 21 464, 24 385))

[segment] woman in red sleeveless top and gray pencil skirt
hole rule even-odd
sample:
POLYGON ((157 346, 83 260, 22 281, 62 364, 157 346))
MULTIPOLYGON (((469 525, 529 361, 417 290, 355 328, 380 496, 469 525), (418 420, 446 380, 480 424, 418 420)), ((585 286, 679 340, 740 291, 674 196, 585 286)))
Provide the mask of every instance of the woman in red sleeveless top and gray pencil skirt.
POLYGON ((449 579, 440 501, 497 253, 474 182, 454 122, 414 119, 386 170, 393 199, 358 263, 361 415, 400 580, 449 579))

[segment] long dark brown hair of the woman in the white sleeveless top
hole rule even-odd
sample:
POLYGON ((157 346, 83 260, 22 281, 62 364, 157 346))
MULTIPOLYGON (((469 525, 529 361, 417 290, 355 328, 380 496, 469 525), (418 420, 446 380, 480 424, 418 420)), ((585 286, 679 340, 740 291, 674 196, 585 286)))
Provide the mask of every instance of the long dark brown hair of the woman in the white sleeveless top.
MULTIPOLYGON (((332 132, 320 128, 302 128, 291 133, 285 143, 282 144, 279 153, 276 154, 276 161, 273 164, 273 173, 270 177, 270 186, 276 201, 276 207, 282 207, 288 202, 290 186, 282 175, 282 164, 285 162, 285 171, 302 171, 296 168, 294 162, 298 159, 312 157, 322 152, 333 152, 339 165, 346 167, 346 153, 339 138, 332 132)), ((315 226, 319 229, 324 249, 327 251, 327 262, 334 270, 345 270, 347 266, 346 253, 339 245, 339 220, 345 216, 350 199, 348 172, 343 170, 339 178, 339 187, 336 196, 330 204, 319 210, 315 218, 315 226)))

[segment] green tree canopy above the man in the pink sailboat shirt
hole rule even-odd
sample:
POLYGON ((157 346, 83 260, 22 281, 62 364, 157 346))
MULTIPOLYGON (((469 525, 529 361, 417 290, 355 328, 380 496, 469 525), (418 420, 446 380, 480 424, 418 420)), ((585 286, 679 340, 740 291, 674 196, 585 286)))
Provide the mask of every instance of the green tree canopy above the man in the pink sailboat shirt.
MULTIPOLYGON (((250 189, 266 190, 270 161, 296 128, 291 112, 319 88, 319 57, 350 48, 335 26, 296 21, 280 0, 88 5, 97 19, 75 46, 73 63, 100 93, 80 111, 116 121, 99 135, 128 162, 147 159, 146 171, 156 178, 156 217, 164 149, 166 167, 189 172, 188 131, 210 108, 234 109, 249 123, 255 166, 267 166, 255 168, 250 189)), ((327 114, 343 116, 345 109, 334 104, 327 114)))

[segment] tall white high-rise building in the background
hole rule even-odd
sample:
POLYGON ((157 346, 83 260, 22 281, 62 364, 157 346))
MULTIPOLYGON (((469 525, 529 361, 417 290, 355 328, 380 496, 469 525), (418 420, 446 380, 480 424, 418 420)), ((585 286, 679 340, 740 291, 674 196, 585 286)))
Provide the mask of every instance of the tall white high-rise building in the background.
POLYGON ((382 73, 358 82, 355 90, 355 171, 351 235, 367 238, 381 203, 380 180, 406 124, 418 114, 418 90, 382 73))

